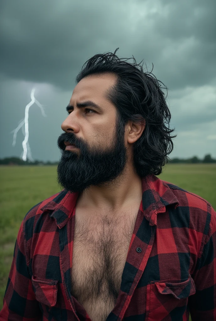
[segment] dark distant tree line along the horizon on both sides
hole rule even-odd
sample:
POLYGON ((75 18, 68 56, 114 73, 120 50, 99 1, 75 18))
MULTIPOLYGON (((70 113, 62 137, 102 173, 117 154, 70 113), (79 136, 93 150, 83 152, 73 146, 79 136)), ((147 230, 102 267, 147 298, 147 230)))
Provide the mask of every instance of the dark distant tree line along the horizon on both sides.
MULTIPOLYGON (((207 154, 203 159, 199 159, 197 156, 192 158, 173 158, 168 161, 168 163, 216 163, 216 160, 212 158, 211 154, 207 154)), ((42 160, 35 160, 34 162, 30 162, 29 160, 22 160, 18 157, 6 157, 4 159, 0 159, 0 165, 57 165, 58 161, 47 161, 44 162, 42 160)))

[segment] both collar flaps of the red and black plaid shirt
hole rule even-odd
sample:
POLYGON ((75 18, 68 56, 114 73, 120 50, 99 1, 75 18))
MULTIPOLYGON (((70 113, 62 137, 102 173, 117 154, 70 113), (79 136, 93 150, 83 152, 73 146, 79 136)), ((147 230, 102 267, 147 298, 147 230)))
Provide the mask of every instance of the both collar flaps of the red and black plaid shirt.
MULTIPOLYGON (((73 213, 78 196, 79 192, 71 193, 63 190, 57 196, 54 195, 40 210, 53 211, 50 217, 55 219, 58 228, 61 229, 73 213)), ((140 210, 149 221, 149 225, 157 224, 158 213, 166 212, 166 206, 168 205, 173 205, 176 208, 179 202, 166 182, 154 174, 142 178, 142 202, 140 210)))

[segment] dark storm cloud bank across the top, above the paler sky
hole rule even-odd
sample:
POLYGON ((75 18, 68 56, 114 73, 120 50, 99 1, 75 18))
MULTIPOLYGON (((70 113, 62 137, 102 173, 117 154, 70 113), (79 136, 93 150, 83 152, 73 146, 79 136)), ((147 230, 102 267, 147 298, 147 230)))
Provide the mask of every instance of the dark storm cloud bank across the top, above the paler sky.
POLYGON ((214 13, 210 0, 5 0, 2 71, 69 89, 86 59, 120 47, 153 63, 169 88, 202 85, 215 76, 214 13))

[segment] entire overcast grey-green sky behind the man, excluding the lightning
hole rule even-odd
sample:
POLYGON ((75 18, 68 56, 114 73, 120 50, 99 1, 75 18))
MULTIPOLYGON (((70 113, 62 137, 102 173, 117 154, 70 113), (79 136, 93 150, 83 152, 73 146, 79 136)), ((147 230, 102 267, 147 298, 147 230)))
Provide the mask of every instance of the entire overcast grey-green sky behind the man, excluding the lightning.
POLYGON ((214 0, 2 0, 0 8, 0 157, 21 156, 13 134, 29 110, 33 159, 58 160, 57 138, 85 61, 119 47, 168 91, 175 126, 172 157, 216 157, 216 2, 214 0))

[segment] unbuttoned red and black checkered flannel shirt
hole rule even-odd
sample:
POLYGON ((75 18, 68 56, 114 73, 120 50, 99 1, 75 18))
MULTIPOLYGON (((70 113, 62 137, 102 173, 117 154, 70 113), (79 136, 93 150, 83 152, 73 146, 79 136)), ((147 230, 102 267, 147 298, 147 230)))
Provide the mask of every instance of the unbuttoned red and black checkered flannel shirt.
MULTIPOLYGON (((1 321, 90 321, 71 295, 78 194, 63 190, 26 214, 1 321)), ((189 312, 192 320, 216 320, 216 213, 201 197, 149 175, 106 320, 186 321, 189 312)))

